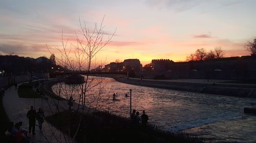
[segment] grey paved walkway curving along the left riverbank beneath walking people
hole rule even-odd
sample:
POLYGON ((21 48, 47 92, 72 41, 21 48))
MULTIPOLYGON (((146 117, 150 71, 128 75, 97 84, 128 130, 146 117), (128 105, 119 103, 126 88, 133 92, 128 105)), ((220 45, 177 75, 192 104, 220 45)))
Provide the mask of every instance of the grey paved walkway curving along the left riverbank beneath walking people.
MULTIPOLYGON (((6 90, 5 96, 3 97, 3 105, 10 121, 14 124, 22 121, 22 127, 27 128, 27 130, 29 129, 29 121, 26 115, 30 106, 34 106, 36 111, 38 111, 39 107, 42 107, 45 111, 45 116, 49 116, 52 115, 52 111, 56 111, 55 103, 57 103, 57 101, 52 98, 49 98, 48 101, 42 98, 19 98, 14 86, 6 90)), ((68 106, 67 101, 60 101, 59 105, 59 107, 68 106)), ((32 135, 32 133, 28 134, 31 142, 67 143, 71 141, 71 138, 69 138, 68 135, 63 134, 46 121, 42 125, 42 132, 39 131, 38 123, 36 122, 35 133, 35 135, 32 135)))

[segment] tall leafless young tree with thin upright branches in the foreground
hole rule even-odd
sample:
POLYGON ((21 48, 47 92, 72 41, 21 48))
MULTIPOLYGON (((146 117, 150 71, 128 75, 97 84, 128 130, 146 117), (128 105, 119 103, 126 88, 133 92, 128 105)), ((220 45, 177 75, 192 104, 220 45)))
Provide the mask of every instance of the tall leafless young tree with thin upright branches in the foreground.
MULTIPOLYGON (((76 97, 76 110, 82 114, 89 113, 91 109, 98 109, 100 106, 99 102, 104 106, 104 103, 102 102, 102 90, 104 87, 104 84, 102 84, 103 78, 90 75, 93 61, 96 61, 96 54, 112 41, 115 34, 115 32, 113 34, 106 34, 103 31, 103 28, 105 27, 103 25, 103 20, 104 18, 100 24, 95 23, 94 28, 91 29, 86 22, 82 22, 79 19, 80 30, 75 31, 76 44, 71 43, 70 46, 68 46, 69 39, 66 41, 63 40, 62 32, 61 46, 54 46, 58 51, 58 56, 55 56, 57 65, 66 67, 66 69, 74 73, 81 71, 86 73, 84 75, 85 82, 83 84, 65 84, 62 82, 63 80, 61 78, 59 79, 59 83, 55 84, 53 88, 55 94, 65 98, 67 101, 69 101, 71 97, 76 97)), ((47 44, 46 46, 50 53, 54 55, 47 44)), ((53 102, 56 102, 54 104, 57 112, 59 112, 60 108, 68 107, 67 105, 60 107, 59 101, 53 102)), ((54 111, 52 112, 55 113, 54 111)), ((82 116, 79 117, 78 126, 72 139, 67 141, 65 138, 66 142, 74 141, 74 138, 79 132, 81 123, 82 116)), ((65 134, 63 134, 63 136, 65 136, 65 134)))

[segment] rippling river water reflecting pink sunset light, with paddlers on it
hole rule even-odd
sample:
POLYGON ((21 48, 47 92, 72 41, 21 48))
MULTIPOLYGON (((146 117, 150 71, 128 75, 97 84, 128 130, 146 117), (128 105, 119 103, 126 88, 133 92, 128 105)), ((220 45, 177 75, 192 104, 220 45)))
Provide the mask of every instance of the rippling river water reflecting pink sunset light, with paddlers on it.
POLYGON ((129 118, 130 97, 125 93, 130 95, 132 89, 132 109, 145 110, 148 122, 164 130, 184 131, 217 142, 256 142, 256 116, 243 113, 244 107, 256 108, 255 99, 141 87, 113 78, 104 78, 101 84, 97 81, 92 82, 91 86, 96 86, 87 96, 92 107, 129 118), (113 101, 113 93, 118 100, 113 101))

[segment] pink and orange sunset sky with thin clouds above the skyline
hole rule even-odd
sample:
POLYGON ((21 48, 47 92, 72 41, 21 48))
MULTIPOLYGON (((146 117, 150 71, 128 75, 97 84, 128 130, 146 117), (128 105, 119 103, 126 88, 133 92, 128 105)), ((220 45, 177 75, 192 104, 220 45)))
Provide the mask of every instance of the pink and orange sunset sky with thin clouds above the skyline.
MULTIPOLYGON (((37 58, 59 45, 61 33, 74 38, 79 17, 93 28, 105 15, 113 42, 98 55, 106 64, 120 59, 185 61, 198 48, 222 47, 225 56, 249 55, 243 48, 256 37, 256 1, 0 1, 0 53, 37 58)), ((106 35, 108 36, 108 35, 106 35)), ((71 40, 72 42, 72 40, 71 40)))

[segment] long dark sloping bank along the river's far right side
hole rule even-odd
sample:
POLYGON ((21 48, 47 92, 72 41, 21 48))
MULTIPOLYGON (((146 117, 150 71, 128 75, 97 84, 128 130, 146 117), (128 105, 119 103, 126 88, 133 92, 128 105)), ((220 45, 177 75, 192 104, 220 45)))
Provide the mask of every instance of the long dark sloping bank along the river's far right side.
POLYGON ((127 79, 123 77, 114 78, 118 82, 140 85, 144 87, 198 92, 207 94, 227 95, 236 97, 256 98, 256 85, 243 84, 202 84, 187 82, 170 82, 144 79, 127 79))

